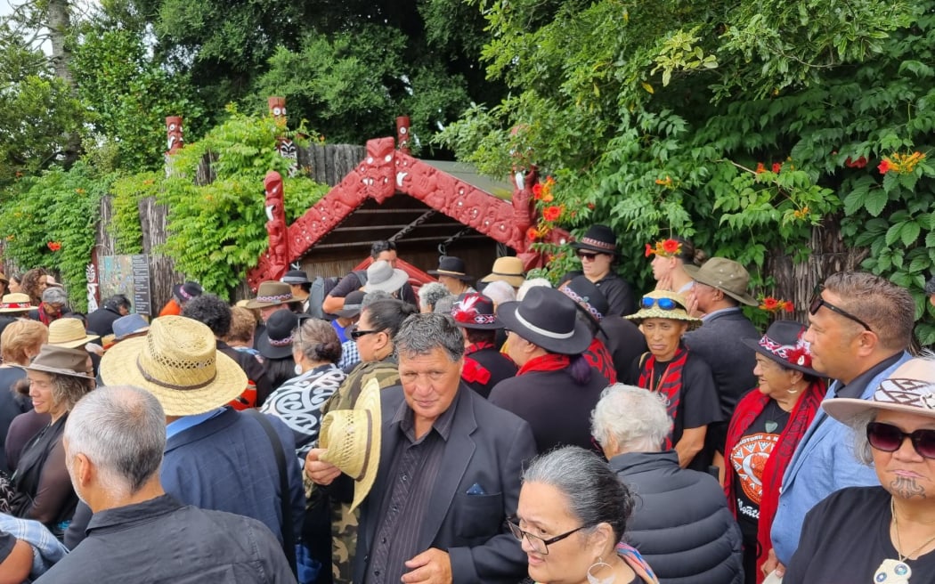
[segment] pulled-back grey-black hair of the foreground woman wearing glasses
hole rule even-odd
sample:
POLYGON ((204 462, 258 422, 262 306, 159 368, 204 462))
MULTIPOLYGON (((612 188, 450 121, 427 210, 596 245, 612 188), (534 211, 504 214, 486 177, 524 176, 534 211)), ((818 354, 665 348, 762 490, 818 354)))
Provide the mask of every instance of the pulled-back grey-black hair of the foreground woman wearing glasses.
POLYGON ((578 446, 554 449, 529 463, 524 483, 551 485, 562 493, 568 512, 585 529, 609 523, 614 541, 626 533, 626 520, 633 511, 633 496, 607 463, 578 446))

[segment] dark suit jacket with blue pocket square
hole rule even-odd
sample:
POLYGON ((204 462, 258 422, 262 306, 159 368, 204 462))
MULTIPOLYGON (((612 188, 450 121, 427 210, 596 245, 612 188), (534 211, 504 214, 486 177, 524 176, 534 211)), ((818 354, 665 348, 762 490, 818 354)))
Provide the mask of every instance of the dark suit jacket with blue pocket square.
MULTIPOLYGON (((386 469, 402 436, 398 423, 391 420, 403 401, 402 387, 381 392, 380 470, 361 506, 356 581, 364 581, 370 542, 381 521, 376 517, 381 497, 389 495, 392 477, 386 476, 386 469)), ((457 409, 422 529, 420 552, 428 548, 447 551, 454 584, 518 582, 527 571, 525 552, 506 529, 505 520, 516 512, 523 468, 536 455, 532 430, 524 420, 488 403, 464 383, 453 405, 457 409), (468 494, 475 484, 486 494, 468 494)))

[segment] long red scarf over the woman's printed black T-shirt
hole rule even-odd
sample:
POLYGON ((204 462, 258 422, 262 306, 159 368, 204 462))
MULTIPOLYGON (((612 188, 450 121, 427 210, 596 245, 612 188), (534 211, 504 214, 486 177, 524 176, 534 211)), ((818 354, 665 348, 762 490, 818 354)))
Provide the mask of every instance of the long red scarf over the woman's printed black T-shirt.
MULTIPOLYGON (((792 461, 792 455, 796 452, 798 442, 809 429, 815 412, 821 406, 821 401, 825 397, 827 386, 823 379, 813 382, 808 389, 798 398, 796 406, 792 408, 789 414, 789 421, 785 424, 783 433, 779 434, 779 441, 770 453, 770 459, 763 467, 763 476, 760 481, 763 484, 763 496, 760 498, 759 520, 756 525, 756 544, 759 548, 756 557, 756 582, 763 581, 763 572, 760 567, 766 560, 768 552, 772 548, 770 542, 770 528, 772 520, 776 517, 776 509, 779 507, 779 488, 783 484, 783 475, 785 467, 792 461)), ((741 398, 737 408, 734 410, 734 416, 730 420, 727 428, 727 440, 724 445, 725 458, 729 459, 730 451, 737 446, 750 424, 756 420, 763 409, 770 403, 770 397, 754 390, 741 398)), ((725 461, 727 466, 724 474, 724 492, 727 497, 727 506, 737 517, 737 496, 734 493, 734 470, 730 467, 729 461, 725 461)))

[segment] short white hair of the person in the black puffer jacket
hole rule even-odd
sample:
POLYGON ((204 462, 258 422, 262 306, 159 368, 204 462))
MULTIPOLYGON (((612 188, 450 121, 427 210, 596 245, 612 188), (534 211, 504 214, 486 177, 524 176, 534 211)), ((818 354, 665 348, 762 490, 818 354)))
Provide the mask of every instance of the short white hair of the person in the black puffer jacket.
POLYGON ((658 452, 672 428, 663 399, 659 393, 614 383, 600 394, 591 413, 591 433, 602 447, 613 436, 621 452, 658 452))

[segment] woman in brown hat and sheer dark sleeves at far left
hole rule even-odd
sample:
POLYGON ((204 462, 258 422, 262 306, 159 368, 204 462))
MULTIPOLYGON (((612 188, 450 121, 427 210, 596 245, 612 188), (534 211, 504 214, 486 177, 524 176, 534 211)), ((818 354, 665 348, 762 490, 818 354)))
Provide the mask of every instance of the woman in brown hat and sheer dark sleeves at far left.
POLYGON ((50 423, 22 450, 0 510, 41 521, 61 534, 78 505, 65 469, 62 434, 68 411, 94 388, 91 360, 85 350, 43 345, 24 369, 33 407, 36 413, 49 414, 50 423))

